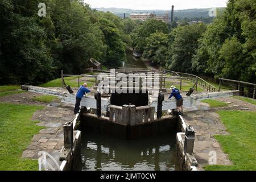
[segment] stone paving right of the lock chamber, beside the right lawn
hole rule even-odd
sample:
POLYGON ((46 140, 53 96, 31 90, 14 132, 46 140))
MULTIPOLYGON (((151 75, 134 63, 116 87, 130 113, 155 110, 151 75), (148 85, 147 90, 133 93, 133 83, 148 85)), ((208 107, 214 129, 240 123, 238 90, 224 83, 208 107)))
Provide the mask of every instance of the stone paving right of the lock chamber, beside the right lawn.
POLYGON ((208 104, 201 103, 199 110, 187 112, 184 119, 188 125, 191 125, 196 131, 194 152, 199 163, 199 168, 209 164, 210 151, 215 151, 218 165, 232 165, 220 144, 214 138, 214 135, 228 135, 225 126, 219 119, 217 110, 241 110, 248 108, 249 111, 256 111, 256 106, 248 102, 237 100, 233 97, 217 98, 218 101, 232 102, 228 106, 212 109, 208 104), (240 105, 240 106, 237 106, 240 105))

